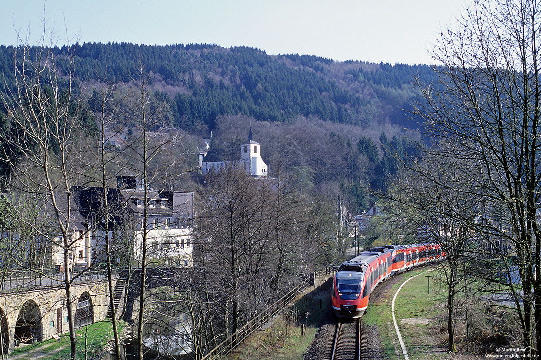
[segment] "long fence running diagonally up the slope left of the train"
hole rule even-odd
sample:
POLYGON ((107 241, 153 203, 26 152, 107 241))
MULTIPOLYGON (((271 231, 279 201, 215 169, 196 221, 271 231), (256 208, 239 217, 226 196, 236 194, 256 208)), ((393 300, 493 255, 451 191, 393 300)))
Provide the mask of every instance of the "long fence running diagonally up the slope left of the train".
POLYGON ((237 330, 233 335, 229 336, 214 349, 210 350, 204 355, 201 360, 211 360, 216 357, 226 356, 233 349, 244 342, 248 337, 254 334, 254 332, 260 330, 269 320, 276 316, 280 311, 284 310, 286 306, 293 301, 301 292, 306 290, 309 286, 314 286, 315 279, 322 276, 332 276, 336 273, 337 268, 332 266, 326 266, 325 268, 312 272, 309 276, 306 276, 303 281, 297 284, 286 295, 282 296, 274 304, 268 306, 265 310, 261 311, 256 317, 250 319, 242 328, 237 330))

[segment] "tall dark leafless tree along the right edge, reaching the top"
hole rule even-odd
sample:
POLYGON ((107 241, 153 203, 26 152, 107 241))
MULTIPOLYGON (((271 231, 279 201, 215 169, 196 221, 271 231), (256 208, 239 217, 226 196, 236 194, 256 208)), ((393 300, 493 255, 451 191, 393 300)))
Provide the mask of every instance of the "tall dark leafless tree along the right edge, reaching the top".
POLYGON ((537 346, 538 353, 540 25, 537 1, 475 1, 457 29, 441 34, 434 52, 441 62, 435 68, 440 84, 424 88, 428 105, 417 109, 435 136, 454 144, 457 151, 450 156, 478 164, 483 176, 477 195, 486 209, 503 209, 506 215, 500 234, 510 239, 517 256, 524 296, 514 300, 523 345, 537 346))

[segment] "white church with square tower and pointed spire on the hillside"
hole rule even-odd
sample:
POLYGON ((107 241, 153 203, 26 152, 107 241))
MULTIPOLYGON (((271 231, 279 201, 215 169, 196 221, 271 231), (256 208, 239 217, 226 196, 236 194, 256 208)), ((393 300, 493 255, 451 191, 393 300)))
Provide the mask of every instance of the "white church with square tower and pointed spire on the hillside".
POLYGON ((203 161, 203 154, 200 154, 201 173, 203 175, 212 172, 222 171, 228 168, 244 169, 247 174, 253 177, 267 176, 267 164, 261 158, 261 144, 256 143, 252 138, 252 128, 248 135, 248 142, 240 146, 240 159, 235 161, 203 161))

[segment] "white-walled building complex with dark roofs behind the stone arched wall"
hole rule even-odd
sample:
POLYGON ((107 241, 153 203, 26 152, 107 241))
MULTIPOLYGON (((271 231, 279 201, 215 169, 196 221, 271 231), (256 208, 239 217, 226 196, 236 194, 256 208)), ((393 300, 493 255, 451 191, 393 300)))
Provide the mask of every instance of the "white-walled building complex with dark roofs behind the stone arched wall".
MULTIPOLYGON (((156 265, 192 266, 194 194, 189 191, 147 191, 147 226, 143 230, 144 192, 133 176, 118 177, 117 188, 107 191, 105 221, 103 190, 81 186, 73 191, 70 231, 74 245, 70 264, 84 269, 105 260, 105 242, 116 265, 140 261, 143 232, 147 258, 156 265)), ((62 244, 61 238, 55 238, 62 244)), ((64 267, 62 246, 52 247, 52 263, 64 267)))

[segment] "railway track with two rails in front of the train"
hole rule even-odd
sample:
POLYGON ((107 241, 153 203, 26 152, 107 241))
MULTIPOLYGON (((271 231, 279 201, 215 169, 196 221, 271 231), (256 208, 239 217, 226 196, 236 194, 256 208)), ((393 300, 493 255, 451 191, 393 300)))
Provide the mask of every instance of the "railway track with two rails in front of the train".
POLYGON ((360 360, 364 347, 365 326, 361 319, 339 321, 334 334, 331 360, 360 360))

